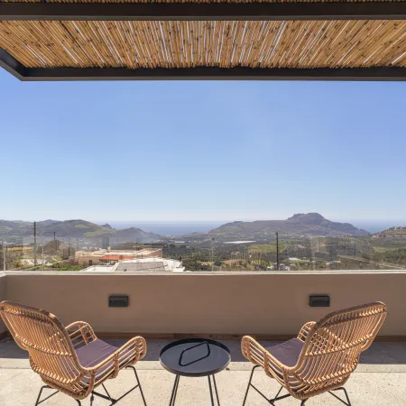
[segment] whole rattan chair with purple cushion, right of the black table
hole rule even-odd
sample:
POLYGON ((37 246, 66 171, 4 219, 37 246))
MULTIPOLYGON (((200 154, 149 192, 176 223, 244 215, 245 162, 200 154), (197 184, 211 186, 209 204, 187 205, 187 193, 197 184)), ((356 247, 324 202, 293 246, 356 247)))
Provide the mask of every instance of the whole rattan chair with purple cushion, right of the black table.
POLYGON ((292 396, 304 405, 312 396, 330 392, 351 406, 343 385, 355 370, 359 355, 371 346, 385 317, 385 305, 375 302, 334 311, 317 323, 311 321, 301 328, 297 338, 276 346, 263 347, 253 337, 243 337, 243 355, 255 364, 243 406, 250 387, 271 404, 292 396), (281 389, 273 399, 268 399, 252 383, 254 370, 258 367, 281 383, 281 389), (283 388, 288 393, 279 396, 283 388), (346 401, 332 392, 338 390, 345 393, 346 401))

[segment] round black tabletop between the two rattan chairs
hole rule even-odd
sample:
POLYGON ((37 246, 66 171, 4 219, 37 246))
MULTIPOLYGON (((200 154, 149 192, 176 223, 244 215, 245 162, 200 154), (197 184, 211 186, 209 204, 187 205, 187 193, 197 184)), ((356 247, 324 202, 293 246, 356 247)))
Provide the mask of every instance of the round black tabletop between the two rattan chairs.
POLYGON ((217 374, 230 363, 230 350, 215 340, 187 338, 174 341, 161 350, 161 365, 172 374, 208 376, 217 374))

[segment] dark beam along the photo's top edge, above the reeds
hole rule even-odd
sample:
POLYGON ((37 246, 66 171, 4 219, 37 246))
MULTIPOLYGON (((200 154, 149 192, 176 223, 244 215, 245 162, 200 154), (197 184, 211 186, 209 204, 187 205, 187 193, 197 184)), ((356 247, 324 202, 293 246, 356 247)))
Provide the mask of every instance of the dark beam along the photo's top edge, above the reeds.
POLYGON ((406 2, 0 3, 12 21, 403 20, 406 2))

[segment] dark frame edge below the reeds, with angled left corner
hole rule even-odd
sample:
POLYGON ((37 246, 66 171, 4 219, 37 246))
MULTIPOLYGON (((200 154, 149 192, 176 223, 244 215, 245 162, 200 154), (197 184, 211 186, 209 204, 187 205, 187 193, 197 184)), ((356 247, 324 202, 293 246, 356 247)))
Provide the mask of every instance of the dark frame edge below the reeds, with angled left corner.
MULTIPOLYGON (((405 2, 406 3, 406 2, 405 2)), ((118 3, 115 3, 118 4, 118 3)), ((308 3, 307 3, 308 4, 308 3)), ((58 80, 336 80, 406 81, 406 68, 25 68, 0 49, 0 67, 22 81, 58 80)))

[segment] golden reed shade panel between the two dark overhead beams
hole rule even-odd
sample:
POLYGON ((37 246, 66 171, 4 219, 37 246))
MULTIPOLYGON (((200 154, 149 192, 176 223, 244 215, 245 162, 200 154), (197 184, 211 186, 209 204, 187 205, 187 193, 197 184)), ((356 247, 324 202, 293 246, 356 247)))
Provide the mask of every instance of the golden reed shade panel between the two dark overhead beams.
POLYGON ((406 67, 406 21, 0 22, 30 68, 406 67))

